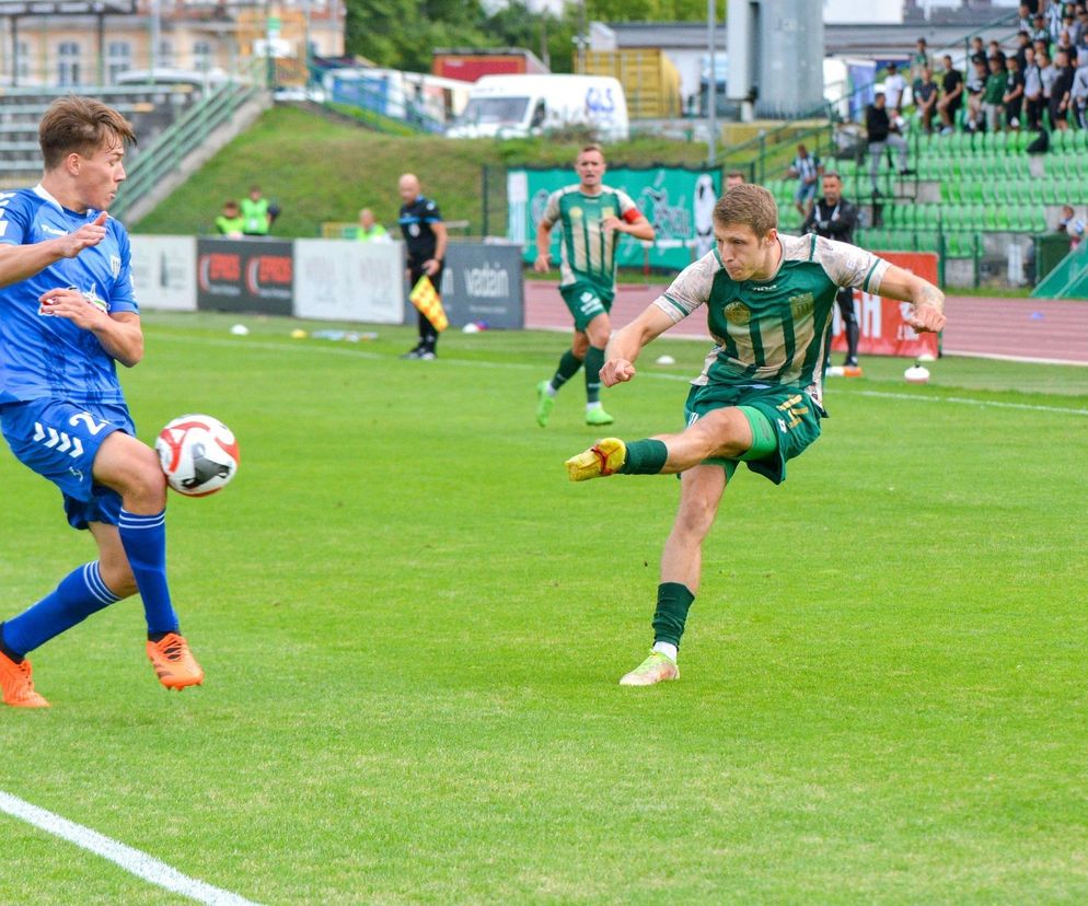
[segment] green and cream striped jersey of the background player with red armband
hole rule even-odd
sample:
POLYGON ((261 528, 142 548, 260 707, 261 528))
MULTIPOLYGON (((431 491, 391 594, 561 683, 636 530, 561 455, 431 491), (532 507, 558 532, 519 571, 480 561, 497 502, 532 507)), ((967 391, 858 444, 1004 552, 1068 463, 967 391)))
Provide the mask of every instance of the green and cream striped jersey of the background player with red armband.
POLYGON ((601 221, 618 217, 628 223, 641 216, 630 196, 601 186, 600 195, 583 195, 572 185, 553 191, 543 222, 562 228, 559 286, 588 281, 609 292, 616 286, 616 243, 623 233, 601 229, 601 221))

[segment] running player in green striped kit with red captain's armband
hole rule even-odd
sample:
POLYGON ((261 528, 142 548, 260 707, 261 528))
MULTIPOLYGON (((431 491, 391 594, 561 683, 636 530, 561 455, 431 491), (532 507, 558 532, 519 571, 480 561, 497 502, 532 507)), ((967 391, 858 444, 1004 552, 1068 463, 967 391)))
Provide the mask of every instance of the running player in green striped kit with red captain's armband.
POLYGON ((552 193, 536 228, 536 260, 544 274, 551 267, 552 230, 560 224, 559 294, 575 320, 575 337, 563 353, 551 381, 536 385, 536 422, 547 425, 555 395, 586 364, 586 423, 611 425, 601 407, 601 368, 612 333, 609 312, 616 293, 616 246, 621 233, 652 240, 653 228, 630 197, 601 183, 604 154, 600 146, 586 146, 575 172, 579 182, 552 193))

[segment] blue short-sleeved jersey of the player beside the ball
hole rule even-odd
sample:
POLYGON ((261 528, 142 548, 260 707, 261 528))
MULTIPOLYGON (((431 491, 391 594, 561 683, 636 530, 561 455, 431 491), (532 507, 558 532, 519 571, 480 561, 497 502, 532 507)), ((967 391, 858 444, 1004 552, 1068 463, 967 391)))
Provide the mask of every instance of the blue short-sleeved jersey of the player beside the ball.
MULTIPOLYGON (((70 211, 42 186, 0 191, 0 243, 45 242, 76 232, 100 213, 70 211)), ((111 218, 97 245, 0 288, 0 405, 43 397, 125 404, 114 358, 99 338, 66 317, 39 314, 38 299, 48 290, 71 288, 107 313, 139 313, 130 256, 125 228, 111 218)))

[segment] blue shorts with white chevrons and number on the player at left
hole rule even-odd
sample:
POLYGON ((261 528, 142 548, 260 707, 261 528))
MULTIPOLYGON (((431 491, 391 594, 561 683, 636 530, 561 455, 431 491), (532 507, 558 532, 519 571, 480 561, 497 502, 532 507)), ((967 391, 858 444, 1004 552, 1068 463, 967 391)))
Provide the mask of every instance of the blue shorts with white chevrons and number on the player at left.
POLYGON ((0 406, 0 430, 16 460, 60 488, 73 528, 117 524, 120 495, 95 484, 93 468, 99 448, 114 431, 136 437, 126 406, 53 397, 9 403, 0 406))

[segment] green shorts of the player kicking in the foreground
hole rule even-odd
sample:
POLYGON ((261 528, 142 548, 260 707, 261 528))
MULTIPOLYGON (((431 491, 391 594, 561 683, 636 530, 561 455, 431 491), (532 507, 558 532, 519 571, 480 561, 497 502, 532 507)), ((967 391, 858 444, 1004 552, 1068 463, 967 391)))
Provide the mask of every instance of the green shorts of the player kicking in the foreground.
MULTIPOLYGON (((694 425, 707 413, 729 406, 749 406, 765 416, 778 433, 778 449, 760 460, 751 460, 748 467, 776 485, 786 480, 786 462, 800 456, 810 443, 820 437, 820 418, 823 410, 805 391, 797 387, 753 390, 725 384, 694 386, 684 404, 687 425, 694 425)), ((715 457, 707 465, 720 465, 732 478, 742 460, 715 457)))

